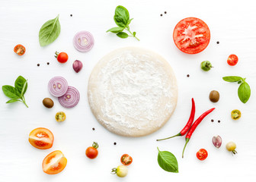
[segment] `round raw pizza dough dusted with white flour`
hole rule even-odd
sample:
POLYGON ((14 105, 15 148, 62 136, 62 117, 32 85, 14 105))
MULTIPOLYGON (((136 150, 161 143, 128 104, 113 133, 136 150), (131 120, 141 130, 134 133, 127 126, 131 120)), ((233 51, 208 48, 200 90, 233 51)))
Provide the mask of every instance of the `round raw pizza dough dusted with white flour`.
POLYGON ((95 118, 113 133, 141 137, 171 117, 178 86, 171 66, 146 49, 114 50, 96 64, 88 83, 95 118))

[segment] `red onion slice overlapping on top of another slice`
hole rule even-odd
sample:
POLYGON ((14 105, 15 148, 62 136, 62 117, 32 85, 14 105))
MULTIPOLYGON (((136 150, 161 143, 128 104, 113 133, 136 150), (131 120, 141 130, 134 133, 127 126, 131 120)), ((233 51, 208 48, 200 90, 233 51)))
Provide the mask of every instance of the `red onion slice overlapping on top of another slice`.
POLYGON ((53 77, 48 83, 48 89, 55 97, 63 96, 68 90, 68 82, 63 77, 53 77))

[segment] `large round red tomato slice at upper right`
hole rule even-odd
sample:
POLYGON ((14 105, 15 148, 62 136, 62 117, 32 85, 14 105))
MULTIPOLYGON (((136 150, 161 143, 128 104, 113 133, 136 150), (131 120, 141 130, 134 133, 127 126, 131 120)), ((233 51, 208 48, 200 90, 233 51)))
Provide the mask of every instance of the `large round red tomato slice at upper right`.
POLYGON ((174 28, 175 45, 182 52, 197 54, 206 49, 210 42, 210 30, 203 20, 197 17, 187 17, 174 28))

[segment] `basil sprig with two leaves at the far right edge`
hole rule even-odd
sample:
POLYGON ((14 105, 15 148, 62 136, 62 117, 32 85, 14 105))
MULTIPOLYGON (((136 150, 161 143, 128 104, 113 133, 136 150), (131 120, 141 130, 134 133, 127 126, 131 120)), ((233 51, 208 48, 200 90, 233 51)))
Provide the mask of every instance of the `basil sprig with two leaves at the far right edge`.
POLYGON ((237 77, 237 76, 229 76, 229 77, 222 77, 223 80, 227 82, 237 82, 240 84, 238 87, 238 97, 241 102, 246 103, 251 96, 251 88, 247 82, 245 82, 246 78, 237 77))

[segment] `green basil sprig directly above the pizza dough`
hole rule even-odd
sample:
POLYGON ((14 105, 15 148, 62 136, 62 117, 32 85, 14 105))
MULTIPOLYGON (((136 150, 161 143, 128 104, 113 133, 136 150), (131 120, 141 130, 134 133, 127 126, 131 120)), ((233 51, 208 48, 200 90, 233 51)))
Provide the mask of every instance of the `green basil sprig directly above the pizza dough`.
POLYGON ((116 33, 116 35, 120 38, 126 39, 129 35, 123 32, 123 30, 127 30, 131 34, 131 36, 139 40, 136 37, 136 32, 132 33, 130 31, 129 24, 131 23, 132 20, 133 18, 130 19, 129 11, 123 6, 119 5, 117 6, 114 14, 114 21, 118 27, 110 28, 110 30, 107 30, 107 32, 116 33))

